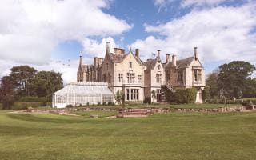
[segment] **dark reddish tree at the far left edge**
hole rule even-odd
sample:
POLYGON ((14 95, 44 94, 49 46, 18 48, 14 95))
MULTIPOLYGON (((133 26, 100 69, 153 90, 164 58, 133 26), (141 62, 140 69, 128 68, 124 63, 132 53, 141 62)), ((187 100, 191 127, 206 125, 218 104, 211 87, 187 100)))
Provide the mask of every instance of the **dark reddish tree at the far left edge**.
POLYGON ((3 109, 10 109, 11 104, 15 99, 15 82, 10 76, 5 76, 1 79, 0 99, 3 109))

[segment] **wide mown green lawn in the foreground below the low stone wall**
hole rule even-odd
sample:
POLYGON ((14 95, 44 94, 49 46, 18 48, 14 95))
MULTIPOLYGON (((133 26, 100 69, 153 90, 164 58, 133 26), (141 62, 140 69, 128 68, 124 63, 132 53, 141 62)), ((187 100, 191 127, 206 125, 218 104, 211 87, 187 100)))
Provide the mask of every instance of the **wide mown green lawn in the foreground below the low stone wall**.
POLYGON ((0 111, 0 159, 255 159, 256 113, 86 118, 0 111))

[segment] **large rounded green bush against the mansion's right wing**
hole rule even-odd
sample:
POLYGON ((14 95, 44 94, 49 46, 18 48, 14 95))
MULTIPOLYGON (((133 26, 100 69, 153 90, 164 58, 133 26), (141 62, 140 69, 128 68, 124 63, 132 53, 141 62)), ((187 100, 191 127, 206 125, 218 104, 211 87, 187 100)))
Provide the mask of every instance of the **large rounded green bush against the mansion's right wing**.
POLYGON ((177 103, 194 103, 197 90, 194 88, 179 88, 174 93, 174 101, 177 103))

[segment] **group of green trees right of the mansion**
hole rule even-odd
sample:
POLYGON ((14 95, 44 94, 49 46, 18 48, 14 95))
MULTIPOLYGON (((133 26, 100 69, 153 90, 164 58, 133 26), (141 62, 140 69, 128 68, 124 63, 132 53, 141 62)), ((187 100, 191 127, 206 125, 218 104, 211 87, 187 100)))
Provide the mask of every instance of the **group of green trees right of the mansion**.
POLYGON ((206 98, 256 97, 255 66, 250 62, 225 63, 206 78, 206 98))

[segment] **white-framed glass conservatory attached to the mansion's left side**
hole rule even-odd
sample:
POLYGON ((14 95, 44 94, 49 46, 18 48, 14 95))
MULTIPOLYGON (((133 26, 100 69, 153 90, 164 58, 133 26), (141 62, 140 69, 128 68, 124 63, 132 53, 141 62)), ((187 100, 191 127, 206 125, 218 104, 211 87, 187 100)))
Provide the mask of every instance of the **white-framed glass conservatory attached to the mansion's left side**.
POLYGON ((113 102, 106 82, 72 82, 53 94, 54 108, 113 102))

